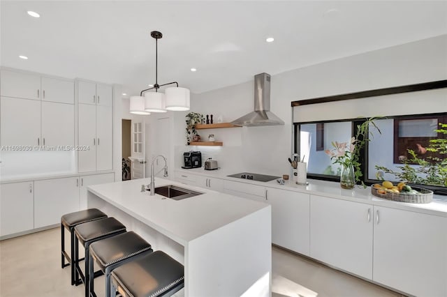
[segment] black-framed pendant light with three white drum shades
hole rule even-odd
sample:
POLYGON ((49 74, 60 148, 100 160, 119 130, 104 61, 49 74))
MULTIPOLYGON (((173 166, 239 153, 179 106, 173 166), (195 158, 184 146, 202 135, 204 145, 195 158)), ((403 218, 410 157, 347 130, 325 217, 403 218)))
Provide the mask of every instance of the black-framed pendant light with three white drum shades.
POLYGON ((152 88, 142 90, 140 96, 131 97, 131 106, 135 106, 135 109, 131 109, 131 113, 147 112, 149 114, 149 112, 167 112, 168 110, 189 110, 189 89, 179 88, 177 82, 169 82, 168 84, 176 84, 176 86, 167 88, 166 94, 159 92, 161 86, 168 85, 158 82, 158 41, 163 37, 163 34, 159 31, 152 31, 151 36, 155 39, 155 84, 152 88), (144 98, 142 97, 143 94, 144 98), (141 105, 142 99, 144 101, 143 107, 141 105))

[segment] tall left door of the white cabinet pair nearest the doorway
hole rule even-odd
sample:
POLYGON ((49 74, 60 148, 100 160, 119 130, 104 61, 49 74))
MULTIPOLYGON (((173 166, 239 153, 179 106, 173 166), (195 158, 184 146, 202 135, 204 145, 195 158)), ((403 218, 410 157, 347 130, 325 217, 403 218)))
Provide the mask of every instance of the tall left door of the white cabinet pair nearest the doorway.
POLYGON ((78 105, 78 144, 88 150, 78 151, 78 172, 96 170, 96 106, 78 105))

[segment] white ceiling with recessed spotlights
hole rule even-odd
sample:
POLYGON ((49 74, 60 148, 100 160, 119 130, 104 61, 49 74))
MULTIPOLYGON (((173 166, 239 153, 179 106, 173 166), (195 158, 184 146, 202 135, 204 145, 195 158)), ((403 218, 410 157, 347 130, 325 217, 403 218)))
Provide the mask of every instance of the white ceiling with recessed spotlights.
POLYGON ((447 1, 5 1, 1 65, 193 93, 447 33, 447 1), (41 14, 36 19, 27 10, 41 14), (265 38, 274 37, 274 43, 265 38), (28 60, 19 59, 28 56, 28 60), (197 68, 192 73, 190 68, 197 68))

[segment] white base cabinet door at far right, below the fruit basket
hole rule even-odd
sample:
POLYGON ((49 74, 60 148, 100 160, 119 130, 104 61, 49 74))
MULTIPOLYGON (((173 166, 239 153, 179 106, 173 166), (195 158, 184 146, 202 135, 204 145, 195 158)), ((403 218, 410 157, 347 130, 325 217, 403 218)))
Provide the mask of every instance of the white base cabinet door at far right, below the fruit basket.
POLYGON ((373 280, 415 296, 447 296, 447 218, 374 206, 373 280))

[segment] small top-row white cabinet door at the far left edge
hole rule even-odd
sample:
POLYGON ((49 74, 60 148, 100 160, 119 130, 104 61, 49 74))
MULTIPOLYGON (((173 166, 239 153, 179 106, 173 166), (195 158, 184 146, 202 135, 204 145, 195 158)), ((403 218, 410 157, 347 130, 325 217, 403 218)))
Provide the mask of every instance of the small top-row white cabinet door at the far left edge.
POLYGON ((1 96, 41 100, 41 77, 29 73, 1 70, 1 96))

